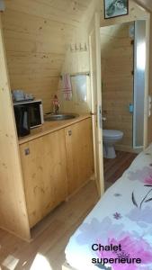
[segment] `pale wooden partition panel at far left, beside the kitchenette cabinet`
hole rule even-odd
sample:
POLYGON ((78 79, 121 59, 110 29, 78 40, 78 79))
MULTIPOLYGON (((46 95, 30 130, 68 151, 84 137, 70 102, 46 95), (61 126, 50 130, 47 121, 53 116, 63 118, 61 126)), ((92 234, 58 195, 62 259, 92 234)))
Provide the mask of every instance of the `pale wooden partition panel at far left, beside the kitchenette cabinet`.
POLYGON ((0 227, 30 239, 0 18, 0 227))

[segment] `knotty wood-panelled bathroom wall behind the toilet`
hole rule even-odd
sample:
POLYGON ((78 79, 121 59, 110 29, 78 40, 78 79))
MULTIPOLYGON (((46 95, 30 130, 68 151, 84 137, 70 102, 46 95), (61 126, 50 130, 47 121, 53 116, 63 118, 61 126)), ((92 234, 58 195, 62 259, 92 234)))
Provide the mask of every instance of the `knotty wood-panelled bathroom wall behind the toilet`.
POLYGON ((124 133, 119 144, 132 148, 133 45, 129 35, 133 23, 101 28, 103 128, 124 133))

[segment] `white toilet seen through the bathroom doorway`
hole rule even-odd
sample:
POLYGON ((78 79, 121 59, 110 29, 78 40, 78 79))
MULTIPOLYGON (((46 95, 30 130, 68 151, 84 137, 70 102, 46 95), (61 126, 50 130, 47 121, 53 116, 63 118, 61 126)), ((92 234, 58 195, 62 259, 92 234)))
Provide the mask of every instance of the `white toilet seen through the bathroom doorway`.
POLYGON ((123 132, 120 130, 103 130, 103 157, 116 157, 114 143, 122 139, 123 132))

